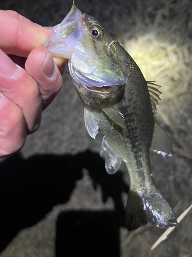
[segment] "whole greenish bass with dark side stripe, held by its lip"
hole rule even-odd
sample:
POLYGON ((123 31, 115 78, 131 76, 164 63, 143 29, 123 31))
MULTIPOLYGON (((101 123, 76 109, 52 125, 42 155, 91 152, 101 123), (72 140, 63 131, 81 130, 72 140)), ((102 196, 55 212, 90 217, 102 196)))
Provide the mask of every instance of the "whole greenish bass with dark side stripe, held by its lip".
POLYGON ((124 161, 130 176, 126 204, 129 231, 146 224, 177 225, 172 208, 151 172, 150 149, 171 156, 172 144, 156 120, 159 86, 146 81, 130 54, 92 16, 74 4, 45 44, 54 57, 68 59, 73 84, 84 106, 84 122, 114 174, 124 161))

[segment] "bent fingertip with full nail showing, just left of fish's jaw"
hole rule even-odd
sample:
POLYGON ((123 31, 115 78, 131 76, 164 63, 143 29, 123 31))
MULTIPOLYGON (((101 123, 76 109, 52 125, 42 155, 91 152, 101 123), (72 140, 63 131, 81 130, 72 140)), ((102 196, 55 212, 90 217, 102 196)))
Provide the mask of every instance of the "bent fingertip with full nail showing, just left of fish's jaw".
POLYGON ((62 87, 62 77, 53 61, 52 53, 45 47, 37 47, 30 54, 26 71, 38 83, 43 109, 55 98, 62 87))

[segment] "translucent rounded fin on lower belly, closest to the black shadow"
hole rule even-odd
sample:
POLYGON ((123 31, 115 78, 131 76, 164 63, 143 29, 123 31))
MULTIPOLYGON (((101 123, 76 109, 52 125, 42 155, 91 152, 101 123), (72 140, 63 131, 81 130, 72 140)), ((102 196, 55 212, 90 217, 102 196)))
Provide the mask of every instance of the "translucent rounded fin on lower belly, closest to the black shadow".
POLYGON ((101 144, 101 156, 105 157, 106 172, 114 174, 121 164, 121 157, 109 146, 105 137, 103 137, 101 144))

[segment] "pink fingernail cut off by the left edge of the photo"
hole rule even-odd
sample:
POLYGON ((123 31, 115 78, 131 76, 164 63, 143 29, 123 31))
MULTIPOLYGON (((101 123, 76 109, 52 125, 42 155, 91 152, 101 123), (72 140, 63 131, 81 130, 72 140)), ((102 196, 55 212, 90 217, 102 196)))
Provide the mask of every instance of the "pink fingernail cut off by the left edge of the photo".
POLYGON ((2 50, 0 50, 0 60, 0 74, 7 77, 13 77, 17 72, 18 67, 2 50))

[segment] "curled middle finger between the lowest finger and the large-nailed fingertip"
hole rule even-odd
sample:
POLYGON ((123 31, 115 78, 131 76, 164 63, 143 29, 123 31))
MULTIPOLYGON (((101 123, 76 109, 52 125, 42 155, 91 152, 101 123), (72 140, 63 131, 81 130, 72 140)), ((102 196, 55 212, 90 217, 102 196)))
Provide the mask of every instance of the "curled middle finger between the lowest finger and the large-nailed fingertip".
POLYGON ((0 50, 0 92, 22 109, 26 130, 37 130, 41 120, 42 99, 37 83, 0 50))

